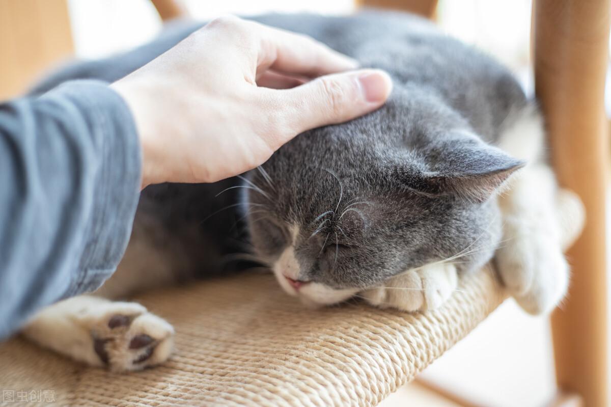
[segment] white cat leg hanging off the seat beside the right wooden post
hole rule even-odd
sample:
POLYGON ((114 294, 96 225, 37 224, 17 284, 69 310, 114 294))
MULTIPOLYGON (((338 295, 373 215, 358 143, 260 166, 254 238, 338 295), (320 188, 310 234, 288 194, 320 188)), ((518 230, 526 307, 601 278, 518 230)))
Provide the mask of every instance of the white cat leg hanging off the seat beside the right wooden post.
POLYGON ((554 309, 566 294, 569 265, 563 255, 584 223, 579 197, 558 189, 551 168, 524 169, 500 198, 503 242, 495 263, 518 304, 530 314, 554 309))

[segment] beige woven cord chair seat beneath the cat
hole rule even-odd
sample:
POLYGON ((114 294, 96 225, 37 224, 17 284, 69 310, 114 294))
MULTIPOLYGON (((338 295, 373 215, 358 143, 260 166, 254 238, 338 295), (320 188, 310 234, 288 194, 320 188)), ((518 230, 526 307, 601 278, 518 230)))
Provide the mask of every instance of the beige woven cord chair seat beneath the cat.
POLYGON ((312 310, 285 295, 273 276, 243 274, 136 298, 177 331, 163 365, 111 373, 15 337, 0 345, 0 386, 48 391, 66 406, 373 406, 503 299, 484 269, 431 312, 357 301, 312 310))

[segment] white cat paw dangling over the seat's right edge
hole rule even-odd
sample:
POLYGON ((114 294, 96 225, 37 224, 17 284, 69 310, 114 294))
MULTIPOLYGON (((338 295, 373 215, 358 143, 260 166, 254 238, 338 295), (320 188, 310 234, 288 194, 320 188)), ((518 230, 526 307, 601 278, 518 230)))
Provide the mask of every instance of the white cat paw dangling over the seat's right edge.
POLYGON ((551 312, 568 288, 569 266, 560 242, 551 233, 507 219, 505 242, 495 262, 510 294, 529 314, 551 312))

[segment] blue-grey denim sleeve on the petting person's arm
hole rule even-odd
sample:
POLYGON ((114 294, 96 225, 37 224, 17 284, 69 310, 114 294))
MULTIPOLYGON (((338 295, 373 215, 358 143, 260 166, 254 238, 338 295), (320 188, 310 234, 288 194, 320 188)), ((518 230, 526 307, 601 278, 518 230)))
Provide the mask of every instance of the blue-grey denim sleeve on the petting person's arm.
POLYGON ((133 117, 104 82, 0 104, 0 339, 111 276, 140 177, 133 117))

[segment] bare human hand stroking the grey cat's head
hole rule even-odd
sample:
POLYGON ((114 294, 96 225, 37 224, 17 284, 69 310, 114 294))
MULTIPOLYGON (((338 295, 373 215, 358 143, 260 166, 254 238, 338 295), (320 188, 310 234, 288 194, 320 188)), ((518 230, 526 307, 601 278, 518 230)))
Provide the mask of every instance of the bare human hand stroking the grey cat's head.
POLYGON ((389 76, 343 72, 356 67, 304 35, 236 17, 212 21, 112 84, 141 138, 142 187, 241 174, 305 130, 379 108, 389 76))

